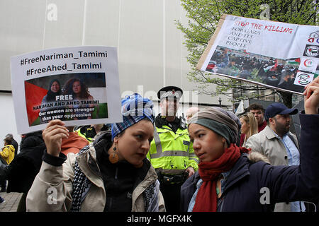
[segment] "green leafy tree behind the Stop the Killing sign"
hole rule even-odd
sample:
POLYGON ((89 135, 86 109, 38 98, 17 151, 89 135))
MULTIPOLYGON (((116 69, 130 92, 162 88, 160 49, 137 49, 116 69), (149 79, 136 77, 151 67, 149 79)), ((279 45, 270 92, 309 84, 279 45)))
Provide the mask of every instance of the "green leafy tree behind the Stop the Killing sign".
MULTIPOLYGON (((230 89, 266 90, 261 86, 242 83, 235 81, 235 79, 216 78, 216 76, 196 69, 201 54, 203 54, 208 41, 216 30, 220 16, 230 14, 259 19, 262 18, 261 16, 267 16, 268 8, 270 20, 301 25, 317 25, 318 5, 318 0, 181 0, 181 6, 186 10, 189 21, 187 25, 181 24, 179 20, 176 23, 177 28, 186 37, 184 44, 189 50, 189 56, 187 57, 191 64, 191 71, 188 74, 189 80, 196 82, 201 93, 208 95, 230 95, 230 89), (268 4, 266 5, 268 7, 265 7, 264 4, 268 4), (216 90, 208 89, 211 83, 217 85, 216 90)), ((259 92, 251 93, 253 93, 251 97, 257 97, 256 93, 259 92)), ((291 107, 291 93, 277 92, 276 90, 273 90, 273 93, 279 93, 284 104, 291 107)), ((238 100, 240 98, 234 101, 238 100)))

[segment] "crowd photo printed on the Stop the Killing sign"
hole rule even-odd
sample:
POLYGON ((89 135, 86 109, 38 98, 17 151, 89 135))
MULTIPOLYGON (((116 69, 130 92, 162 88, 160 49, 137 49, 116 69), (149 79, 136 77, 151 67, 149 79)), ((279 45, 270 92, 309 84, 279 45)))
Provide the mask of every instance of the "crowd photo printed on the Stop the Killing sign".
POLYGON ((293 64, 296 61, 300 61, 300 59, 287 59, 284 61, 220 47, 211 57, 206 71, 301 92, 302 87, 293 84, 298 71, 298 66, 293 64))

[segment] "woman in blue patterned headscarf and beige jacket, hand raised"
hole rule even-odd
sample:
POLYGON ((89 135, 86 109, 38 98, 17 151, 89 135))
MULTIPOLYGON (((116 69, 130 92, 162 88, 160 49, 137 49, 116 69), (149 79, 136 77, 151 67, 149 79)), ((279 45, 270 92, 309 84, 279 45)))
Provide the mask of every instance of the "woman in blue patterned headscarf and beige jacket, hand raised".
POLYGON ((122 100, 123 122, 77 155, 60 153, 64 122, 50 121, 47 151, 28 193, 28 211, 164 211, 155 169, 147 160, 153 139, 152 101, 138 94, 122 100), (66 161, 66 162, 65 162, 66 161), (64 164, 62 164, 65 162, 64 164))

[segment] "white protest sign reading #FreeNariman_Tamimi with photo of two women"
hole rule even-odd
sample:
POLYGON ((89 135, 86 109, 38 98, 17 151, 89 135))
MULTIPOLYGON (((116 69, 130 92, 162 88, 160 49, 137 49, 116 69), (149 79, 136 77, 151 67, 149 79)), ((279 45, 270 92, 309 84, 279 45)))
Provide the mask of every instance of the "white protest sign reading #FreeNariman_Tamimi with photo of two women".
POLYGON ((122 121, 115 47, 65 47, 11 57, 18 133, 122 121))

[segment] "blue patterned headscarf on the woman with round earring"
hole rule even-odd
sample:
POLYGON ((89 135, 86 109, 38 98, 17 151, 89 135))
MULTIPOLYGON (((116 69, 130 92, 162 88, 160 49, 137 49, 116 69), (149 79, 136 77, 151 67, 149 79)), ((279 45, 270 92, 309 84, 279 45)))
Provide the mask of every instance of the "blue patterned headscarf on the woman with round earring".
POLYGON ((116 135, 122 133, 125 129, 133 126, 142 119, 147 118, 152 124, 154 124, 155 121, 152 100, 143 98, 138 93, 133 93, 122 99, 121 113, 123 122, 112 124, 112 141, 116 135))

